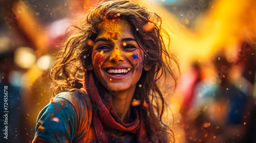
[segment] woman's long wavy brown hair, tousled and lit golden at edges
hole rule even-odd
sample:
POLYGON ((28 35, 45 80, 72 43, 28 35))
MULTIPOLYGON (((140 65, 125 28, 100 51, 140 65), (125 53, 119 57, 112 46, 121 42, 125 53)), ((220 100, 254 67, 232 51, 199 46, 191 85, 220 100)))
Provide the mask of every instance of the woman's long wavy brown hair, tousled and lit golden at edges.
MULTIPOLYGON (((161 27, 162 19, 151 10, 128 0, 104 1, 92 8, 87 17, 72 25, 66 34, 58 59, 50 70, 50 75, 56 83, 54 95, 72 88, 81 88, 84 70, 92 65, 92 46, 102 29, 100 24, 105 19, 122 19, 129 23, 131 32, 145 54, 144 64, 151 65, 149 71, 143 69, 137 83, 134 98, 141 101, 138 108, 142 111, 146 132, 153 142, 162 142, 160 133, 168 128, 162 121, 164 110, 167 109, 158 80, 169 74, 175 81, 172 62, 179 67, 177 58, 167 52, 163 42, 163 34, 169 41, 169 35, 161 27), (154 25, 151 30, 145 30, 148 24, 154 25), (141 84, 143 88, 139 88, 141 84), (143 103, 148 105, 147 108, 143 103)), ((168 46, 169 46, 168 41, 168 46)), ((168 47, 167 46, 167 47, 168 47)), ((144 104, 145 105, 145 104, 144 104)), ((169 133, 174 139, 173 131, 169 133)))

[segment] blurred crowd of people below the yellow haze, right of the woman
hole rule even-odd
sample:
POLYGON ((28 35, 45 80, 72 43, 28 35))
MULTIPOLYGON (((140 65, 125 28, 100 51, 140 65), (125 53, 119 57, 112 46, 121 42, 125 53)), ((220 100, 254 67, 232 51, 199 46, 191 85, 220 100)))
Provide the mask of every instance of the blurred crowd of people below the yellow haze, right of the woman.
POLYGON ((195 61, 182 75, 187 142, 256 142, 254 52, 251 47, 236 63, 218 53, 210 63, 195 61))

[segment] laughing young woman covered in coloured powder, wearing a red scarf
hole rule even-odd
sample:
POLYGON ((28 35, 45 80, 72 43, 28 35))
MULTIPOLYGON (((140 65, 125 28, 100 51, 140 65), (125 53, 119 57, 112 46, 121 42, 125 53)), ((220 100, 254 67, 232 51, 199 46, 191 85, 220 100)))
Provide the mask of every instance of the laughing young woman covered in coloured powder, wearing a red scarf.
POLYGON ((161 30, 161 18, 132 1, 92 9, 51 70, 60 93, 39 113, 33 142, 174 141, 157 80, 174 77, 177 60, 161 30))

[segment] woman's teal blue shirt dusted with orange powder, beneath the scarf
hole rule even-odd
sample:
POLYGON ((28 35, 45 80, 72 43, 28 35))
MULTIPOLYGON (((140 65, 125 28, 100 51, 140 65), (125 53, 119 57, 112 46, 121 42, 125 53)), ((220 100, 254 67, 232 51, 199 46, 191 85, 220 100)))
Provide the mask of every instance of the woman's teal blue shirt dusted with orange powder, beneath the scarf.
MULTIPOLYGON (((49 142, 98 142, 92 121, 93 106, 80 90, 59 93, 40 111, 35 136, 49 142)), ((103 130, 109 142, 136 142, 136 134, 115 136, 103 130)))

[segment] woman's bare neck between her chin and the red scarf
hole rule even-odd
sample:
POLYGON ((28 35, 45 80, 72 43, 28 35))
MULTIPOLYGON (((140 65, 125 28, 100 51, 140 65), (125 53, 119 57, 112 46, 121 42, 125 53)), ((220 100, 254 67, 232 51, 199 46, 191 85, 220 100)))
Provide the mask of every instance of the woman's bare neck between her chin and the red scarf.
POLYGON ((135 88, 136 84, 129 89, 118 91, 111 100, 113 108, 124 123, 130 122, 130 107, 135 88))

